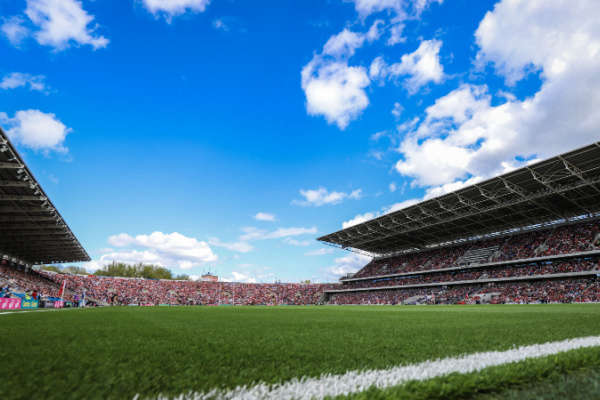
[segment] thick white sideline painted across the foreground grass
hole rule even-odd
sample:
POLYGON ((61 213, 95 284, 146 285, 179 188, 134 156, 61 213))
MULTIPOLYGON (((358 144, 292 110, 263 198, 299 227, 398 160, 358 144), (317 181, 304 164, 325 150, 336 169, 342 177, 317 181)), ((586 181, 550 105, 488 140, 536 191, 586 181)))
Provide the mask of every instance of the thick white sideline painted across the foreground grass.
MULTIPOLYGON (((562 353, 584 347, 600 346, 600 336, 567 339, 560 342, 534 344, 516 347, 506 351, 489 351, 445 358, 436 361, 425 361, 419 364, 398 366, 390 369, 348 371, 341 375, 323 374, 318 378, 294 378, 290 381, 269 385, 261 383, 255 386, 238 386, 232 390, 213 389, 204 393, 187 393, 175 397, 179 400, 255 400, 284 399, 309 400, 322 399, 326 396, 348 395, 359 393, 374 386, 385 389, 398 386, 408 381, 423 381, 453 372, 477 372, 487 367, 524 361, 562 353)), ((136 395, 134 399, 139 399, 136 395)), ((158 396, 158 399, 173 397, 158 396)))

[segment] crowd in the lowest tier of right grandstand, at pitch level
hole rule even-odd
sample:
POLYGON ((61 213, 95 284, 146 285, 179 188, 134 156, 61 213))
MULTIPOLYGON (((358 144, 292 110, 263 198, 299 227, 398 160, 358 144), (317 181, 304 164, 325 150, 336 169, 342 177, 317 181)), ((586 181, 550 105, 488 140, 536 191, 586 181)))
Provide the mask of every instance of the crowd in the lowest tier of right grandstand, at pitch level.
POLYGON ((377 290, 331 294, 329 304, 422 304, 479 303, 573 303, 600 302, 600 281, 588 279, 494 282, 453 287, 377 290))

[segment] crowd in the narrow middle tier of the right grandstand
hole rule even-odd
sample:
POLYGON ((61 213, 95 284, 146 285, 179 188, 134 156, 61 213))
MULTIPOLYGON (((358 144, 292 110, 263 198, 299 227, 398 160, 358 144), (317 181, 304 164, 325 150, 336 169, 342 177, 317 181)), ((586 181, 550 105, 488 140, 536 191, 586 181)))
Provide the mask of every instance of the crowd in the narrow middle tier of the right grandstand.
MULTIPOLYGON (((573 259, 544 263, 529 263, 511 266, 469 268, 450 272, 432 272, 390 278, 344 282, 343 289, 382 286, 419 285, 427 283, 470 281, 477 279, 511 278, 517 276, 549 275, 566 272, 600 270, 600 259, 573 259)), ((600 273, 600 271, 599 271, 600 273)))

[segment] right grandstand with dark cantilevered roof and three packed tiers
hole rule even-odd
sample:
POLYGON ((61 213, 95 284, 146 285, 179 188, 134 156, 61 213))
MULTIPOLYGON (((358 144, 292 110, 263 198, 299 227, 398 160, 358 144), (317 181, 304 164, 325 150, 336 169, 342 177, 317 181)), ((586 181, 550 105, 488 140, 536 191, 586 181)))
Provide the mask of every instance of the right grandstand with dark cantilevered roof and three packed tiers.
POLYGON ((600 301, 600 143, 319 240, 373 260, 330 303, 600 301))

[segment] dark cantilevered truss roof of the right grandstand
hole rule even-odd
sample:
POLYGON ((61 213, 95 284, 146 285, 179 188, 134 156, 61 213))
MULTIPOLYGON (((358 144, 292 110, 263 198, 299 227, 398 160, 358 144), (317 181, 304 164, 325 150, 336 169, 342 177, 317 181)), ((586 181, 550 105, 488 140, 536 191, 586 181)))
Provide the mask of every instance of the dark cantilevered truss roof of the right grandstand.
POLYGON ((600 212, 600 142, 320 237, 374 254, 600 212))

